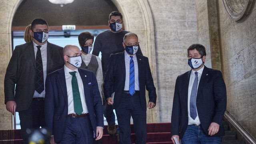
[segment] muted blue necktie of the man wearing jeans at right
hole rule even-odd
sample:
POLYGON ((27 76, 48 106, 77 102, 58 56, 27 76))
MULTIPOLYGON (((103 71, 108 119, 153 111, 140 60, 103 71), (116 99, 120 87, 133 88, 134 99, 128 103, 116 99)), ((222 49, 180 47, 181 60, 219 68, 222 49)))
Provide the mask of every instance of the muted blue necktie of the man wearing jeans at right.
POLYGON ((196 78, 194 80, 191 95, 190 95, 190 117, 193 120, 196 118, 196 94, 197 94, 197 82, 198 82, 198 72, 195 72, 196 78))

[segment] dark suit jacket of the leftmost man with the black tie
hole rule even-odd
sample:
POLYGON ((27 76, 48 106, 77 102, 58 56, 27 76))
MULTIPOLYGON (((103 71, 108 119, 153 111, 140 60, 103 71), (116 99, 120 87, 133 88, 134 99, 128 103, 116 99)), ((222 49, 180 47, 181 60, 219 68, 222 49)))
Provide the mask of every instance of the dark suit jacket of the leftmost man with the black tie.
MULTIPOLYGON (((47 43, 47 74, 63 67, 62 50, 60 46, 47 43)), ((4 78, 5 104, 8 101, 15 101, 16 111, 27 110, 32 102, 35 84, 36 58, 31 41, 16 46, 12 53, 4 78)))

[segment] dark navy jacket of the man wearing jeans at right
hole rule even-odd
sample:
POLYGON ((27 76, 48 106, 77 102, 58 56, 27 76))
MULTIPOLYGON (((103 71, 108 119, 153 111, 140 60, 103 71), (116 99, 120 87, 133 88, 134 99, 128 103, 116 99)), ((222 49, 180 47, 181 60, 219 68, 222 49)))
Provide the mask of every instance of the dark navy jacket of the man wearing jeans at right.
MULTIPOLYGON (((180 135, 180 139, 182 139, 188 126, 190 73, 191 70, 178 76, 175 84, 171 134, 180 135)), ((226 102, 226 86, 221 72, 204 66, 197 90, 196 107, 202 128, 207 135, 211 122, 220 125, 219 132, 214 136, 224 135, 222 119, 226 110, 226 102)))

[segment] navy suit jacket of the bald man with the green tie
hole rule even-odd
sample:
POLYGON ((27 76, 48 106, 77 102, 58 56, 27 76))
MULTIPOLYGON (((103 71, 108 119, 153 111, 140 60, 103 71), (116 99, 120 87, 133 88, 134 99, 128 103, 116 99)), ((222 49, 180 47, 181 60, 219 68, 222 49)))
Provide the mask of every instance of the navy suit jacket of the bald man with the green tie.
MULTIPOLYGON (((102 101, 98 83, 92 72, 83 69, 78 69, 78 72, 84 85, 84 95, 90 122, 94 134, 96 134, 96 126, 104 127, 102 101)), ((46 127, 53 133, 55 142, 60 142, 66 128, 68 115, 68 94, 64 68, 48 74, 45 87, 44 112, 46 127)))

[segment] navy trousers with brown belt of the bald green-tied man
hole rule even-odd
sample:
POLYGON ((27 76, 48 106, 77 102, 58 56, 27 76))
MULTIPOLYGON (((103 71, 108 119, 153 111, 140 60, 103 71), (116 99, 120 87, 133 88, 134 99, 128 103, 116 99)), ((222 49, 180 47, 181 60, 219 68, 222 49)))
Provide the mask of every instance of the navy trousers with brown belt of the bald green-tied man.
POLYGON ((92 144, 93 128, 90 117, 67 118, 62 141, 58 144, 92 144))

